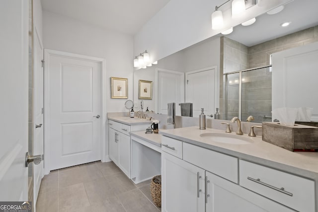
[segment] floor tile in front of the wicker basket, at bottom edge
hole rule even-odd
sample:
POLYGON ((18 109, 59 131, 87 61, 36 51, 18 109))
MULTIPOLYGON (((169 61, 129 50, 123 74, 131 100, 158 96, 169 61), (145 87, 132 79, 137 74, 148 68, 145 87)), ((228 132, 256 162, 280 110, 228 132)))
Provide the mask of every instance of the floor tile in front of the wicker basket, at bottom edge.
POLYGON ((120 194, 118 198, 127 212, 158 212, 139 189, 120 194))

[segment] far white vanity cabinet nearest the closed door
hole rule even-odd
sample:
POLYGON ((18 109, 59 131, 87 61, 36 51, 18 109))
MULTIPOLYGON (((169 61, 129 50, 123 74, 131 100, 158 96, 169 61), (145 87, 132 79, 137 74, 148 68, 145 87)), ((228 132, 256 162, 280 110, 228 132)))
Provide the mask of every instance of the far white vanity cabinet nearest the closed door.
POLYGON ((126 125, 108 120, 109 158, 131 178, 131 131, 146 130, 150 124, 126 125))

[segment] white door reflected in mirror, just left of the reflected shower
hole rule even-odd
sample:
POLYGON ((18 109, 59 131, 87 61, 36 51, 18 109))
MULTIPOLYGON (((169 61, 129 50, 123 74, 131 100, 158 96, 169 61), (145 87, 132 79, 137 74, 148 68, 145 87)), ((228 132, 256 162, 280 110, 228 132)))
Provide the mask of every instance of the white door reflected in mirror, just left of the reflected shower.
POLYGON ((203 69, 185 73, 185 102, 193 103, 193 117, 214 114, 217 89, 215 69, 203 69))

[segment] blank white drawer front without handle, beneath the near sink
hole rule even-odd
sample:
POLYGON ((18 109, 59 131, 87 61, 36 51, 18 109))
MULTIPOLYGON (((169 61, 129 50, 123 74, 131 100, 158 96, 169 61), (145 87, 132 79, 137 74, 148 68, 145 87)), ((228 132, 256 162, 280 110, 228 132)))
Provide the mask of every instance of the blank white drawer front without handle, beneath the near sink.
POLYGON ((238 183, 238 158, 183 142, 183 160, 238 183))

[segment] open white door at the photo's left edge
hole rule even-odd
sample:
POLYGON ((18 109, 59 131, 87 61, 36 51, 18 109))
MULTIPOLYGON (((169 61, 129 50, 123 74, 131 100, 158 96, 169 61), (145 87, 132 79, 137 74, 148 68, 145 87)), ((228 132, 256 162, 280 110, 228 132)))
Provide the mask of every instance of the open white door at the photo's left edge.
POLYGON ((0 201, 28 201, 28 4, 0 0, 0 201))

